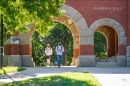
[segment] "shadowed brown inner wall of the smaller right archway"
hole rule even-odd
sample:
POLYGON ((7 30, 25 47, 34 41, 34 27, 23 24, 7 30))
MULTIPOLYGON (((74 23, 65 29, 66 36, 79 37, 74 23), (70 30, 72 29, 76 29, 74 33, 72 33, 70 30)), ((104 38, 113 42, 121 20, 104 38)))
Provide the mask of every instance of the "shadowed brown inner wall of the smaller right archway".
MULTIPOLYGON (((118 54, 118 35, 117 35, 117 32, 115 31, 115 29, 110 26, 104 25, 104 26, 100 26, 98 29, 96 29, 96 32, 100 32, 106 38, 106 44, 104 44, 104 46, 107 48, 106 59, 112 58, 113 60, 115 60, 116 56, 118 54)), ((101 43, 105 43, 104 40, 105 39, 102 38, 101 43)), ((102 47, 102 49, 103 49, 103 47, 102 47)), ((102 53, 105 54, 105 52, 102 52, 102 53)))

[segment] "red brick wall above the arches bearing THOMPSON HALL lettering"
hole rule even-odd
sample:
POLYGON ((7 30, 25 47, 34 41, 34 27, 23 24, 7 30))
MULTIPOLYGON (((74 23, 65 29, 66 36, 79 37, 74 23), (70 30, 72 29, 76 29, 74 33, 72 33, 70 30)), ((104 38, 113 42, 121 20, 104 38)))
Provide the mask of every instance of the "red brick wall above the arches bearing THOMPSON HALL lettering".
POLYGON ((112 18, 127 32, 127 0, 66 0, 66 4, 78 10, 88 26, 98 19, 112 18), (93 7, 121 7, 121 10, 94 10, 93 7))

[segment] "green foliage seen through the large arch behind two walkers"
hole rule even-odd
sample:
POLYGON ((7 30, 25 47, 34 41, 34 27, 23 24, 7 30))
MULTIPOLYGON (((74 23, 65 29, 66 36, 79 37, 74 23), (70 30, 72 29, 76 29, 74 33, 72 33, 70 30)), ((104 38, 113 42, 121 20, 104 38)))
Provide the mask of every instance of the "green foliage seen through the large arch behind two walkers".
POLYGON ((33 35, 32 47, 33 53, 32 56, 37 66, 46 65, 46 57, 44 50, 46 44, 50 43, 53 49, 52 63, 56 62, 56 53, 55 47, 58 42, 62 42, 65 53, 64 58, 67 59, 67 65, 70 65, 73 57, 73 37, 70 30, 63 24, 55 23, 56 26, 49 32, 48 36, 41 36, 37 32, 33 35))

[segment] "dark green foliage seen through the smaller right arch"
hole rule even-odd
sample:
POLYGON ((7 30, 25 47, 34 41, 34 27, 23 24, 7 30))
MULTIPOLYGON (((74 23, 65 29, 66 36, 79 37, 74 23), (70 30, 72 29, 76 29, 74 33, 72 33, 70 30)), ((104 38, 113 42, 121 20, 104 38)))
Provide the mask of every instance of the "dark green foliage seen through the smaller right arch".
POLYGON ((94 34, 94 53, 97 59, 106 58, 107 43, 106 38, 99 32, 94 34))

